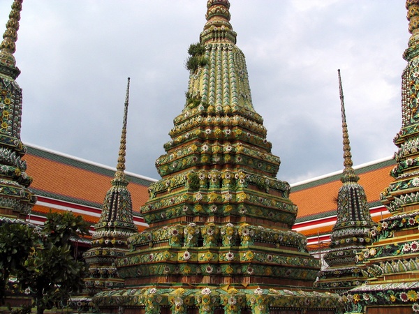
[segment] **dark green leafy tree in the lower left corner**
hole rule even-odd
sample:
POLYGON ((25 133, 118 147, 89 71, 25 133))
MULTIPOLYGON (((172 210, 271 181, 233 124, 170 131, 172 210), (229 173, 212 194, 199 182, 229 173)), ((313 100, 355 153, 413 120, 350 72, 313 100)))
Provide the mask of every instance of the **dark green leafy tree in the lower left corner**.
POLYGON ((47 214, 43 230, 20 223, 0 225, 0 299, 10 276, 22 290, 30 287, 38 313, 64 304, 84 286, 84 264, 73 257, 71 239, 88 234, 89 224, 73 213, 47 214))

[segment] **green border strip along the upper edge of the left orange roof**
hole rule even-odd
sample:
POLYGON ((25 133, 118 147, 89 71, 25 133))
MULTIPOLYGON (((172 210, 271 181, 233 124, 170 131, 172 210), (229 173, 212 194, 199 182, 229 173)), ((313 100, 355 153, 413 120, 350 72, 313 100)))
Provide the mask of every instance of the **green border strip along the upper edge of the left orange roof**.
MULTIPOLYGON (((28 149, 28 154, 38 156, 41 158, 49 159, 56 161, 57 163, 62 163, 64 165, 69 165, 72 167, 78 167, 82 170, 87 170, 91 172, 95 172, 97 174, 103 174, 105 176, 110 177, 111 179, 115 176, 115 170, 107 169, 105 165, 101 167, 100 165, 94 165, 93 163, 84 162, 78 158, 71 158, 70 156, 62 156, 60 154, 54 154, 52 151, 47 151, 44 149, 40 149, 37 147, 32 147, 30 145, 25 145, 28 149)), ((142 179, 139 177, 134 177, 130 174, 126 174, 126 178, 129 182, 133 184, 140 184, 141 186, 150 186, 154 181, 142 179)))

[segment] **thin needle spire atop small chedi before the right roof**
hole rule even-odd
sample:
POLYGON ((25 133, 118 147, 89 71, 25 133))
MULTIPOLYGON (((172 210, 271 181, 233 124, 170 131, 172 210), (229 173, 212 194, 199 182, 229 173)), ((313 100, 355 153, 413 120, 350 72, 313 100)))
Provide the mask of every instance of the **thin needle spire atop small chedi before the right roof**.
POLYGON ((344 104, 344 90, 342 89, 342 81, 340 70, 337 70, 337 76, 339 78, 339 96, 341 100, 341 117, 342 117, 342 133, 343 133, 343 144, 344 144, 344 174, 341 177, 341 181, 358 181, 358 176, 355 174, 352 168, 352 155, 351 146, 348 135, 348 125, 346 124, 345 104, 344 104))

